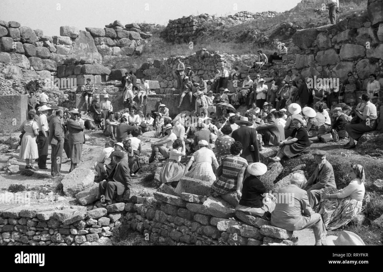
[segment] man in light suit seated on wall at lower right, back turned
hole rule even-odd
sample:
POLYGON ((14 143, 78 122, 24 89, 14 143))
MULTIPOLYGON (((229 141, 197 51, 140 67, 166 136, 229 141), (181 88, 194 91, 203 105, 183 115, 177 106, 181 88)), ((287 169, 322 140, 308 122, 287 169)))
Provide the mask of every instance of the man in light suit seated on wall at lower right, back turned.
POLYGON ((326 228, 322 217, 311 208, 307 192, 301 189, 305 182, 304 175, 295 173, 291 177, 291 184, 278 190, 278 202, 271 213, 272 226, 293 231, 312 228, 315 245, 321 246, 326 239, 326 228))

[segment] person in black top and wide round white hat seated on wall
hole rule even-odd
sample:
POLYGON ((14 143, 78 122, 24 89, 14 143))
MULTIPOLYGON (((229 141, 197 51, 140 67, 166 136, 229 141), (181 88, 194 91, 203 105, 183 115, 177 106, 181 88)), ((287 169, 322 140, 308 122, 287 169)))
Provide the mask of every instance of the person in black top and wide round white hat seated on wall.
POLYGON ((242 184, 242 196, 236 206, 236 212, 243 212, 252 216, 269 218, 275 208, 265 185, 260 177, 267 172, 267 166, 262 162, 254 162, 247 167, 249 174, 242 184))

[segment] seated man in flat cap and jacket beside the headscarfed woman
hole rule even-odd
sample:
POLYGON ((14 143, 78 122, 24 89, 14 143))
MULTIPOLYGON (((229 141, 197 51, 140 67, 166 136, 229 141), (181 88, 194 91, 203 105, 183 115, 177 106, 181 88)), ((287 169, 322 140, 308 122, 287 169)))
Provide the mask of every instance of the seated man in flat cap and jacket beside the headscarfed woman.
POLYGON ((307 191, 310 206, 315 210, 319 206, 321 194, 324 192, 324 189, 328 187, 336 189, 336 183, 332 165, 326 161, 326 151, 316 150, 313 155, 314 161, 318 166, 303 190, 307 191))

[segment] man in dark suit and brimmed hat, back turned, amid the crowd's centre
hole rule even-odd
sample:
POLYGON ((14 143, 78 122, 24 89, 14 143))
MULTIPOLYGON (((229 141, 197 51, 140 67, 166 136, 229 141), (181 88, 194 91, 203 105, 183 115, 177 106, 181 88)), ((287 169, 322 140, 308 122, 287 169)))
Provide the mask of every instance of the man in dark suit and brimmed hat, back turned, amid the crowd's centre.
POLYGON ((253 123, 249 122, 247 117, 241 117, 235 123, 241 127, 234 130, 231 137, 242 143, 241 157, 245 158, 248 163, 259 162, 257 131, 254 128, 249 128, 253 123))

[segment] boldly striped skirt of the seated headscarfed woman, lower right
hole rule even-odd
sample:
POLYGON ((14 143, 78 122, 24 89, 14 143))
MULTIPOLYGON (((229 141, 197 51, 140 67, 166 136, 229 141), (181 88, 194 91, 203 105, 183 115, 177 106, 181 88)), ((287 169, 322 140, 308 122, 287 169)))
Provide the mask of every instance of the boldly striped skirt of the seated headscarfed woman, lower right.
MULTIPOLYGON (((325 193, 339 193, 339 190, 328 187, 325 193)), ((346 198, 322 198, 321 208, 323 223, 328 231, 338 229, 348 224, 362 210, 362 201, 350 197, 346 198)))

